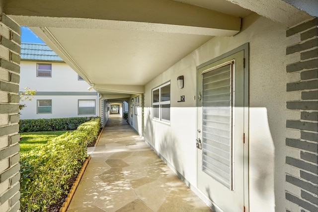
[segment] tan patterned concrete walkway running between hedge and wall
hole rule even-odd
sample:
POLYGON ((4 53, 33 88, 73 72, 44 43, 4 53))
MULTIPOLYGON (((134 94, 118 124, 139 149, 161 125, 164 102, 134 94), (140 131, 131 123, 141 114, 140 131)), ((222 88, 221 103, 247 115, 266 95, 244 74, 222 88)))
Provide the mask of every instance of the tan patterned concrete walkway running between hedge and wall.
POLYGON ((68 212, 211 212, 119 116, 111 116, 68 212))

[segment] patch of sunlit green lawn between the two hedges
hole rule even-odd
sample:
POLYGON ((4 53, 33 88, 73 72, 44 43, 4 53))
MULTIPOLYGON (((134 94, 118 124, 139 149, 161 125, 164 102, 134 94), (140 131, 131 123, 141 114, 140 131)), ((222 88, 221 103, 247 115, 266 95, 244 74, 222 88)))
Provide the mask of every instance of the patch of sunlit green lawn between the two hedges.
POLYGON ((67 131, 20 133, 20 136, 22 137, 19 142, 20 152, 30 151, 31 149, 41 146, 65 132, 67 131))

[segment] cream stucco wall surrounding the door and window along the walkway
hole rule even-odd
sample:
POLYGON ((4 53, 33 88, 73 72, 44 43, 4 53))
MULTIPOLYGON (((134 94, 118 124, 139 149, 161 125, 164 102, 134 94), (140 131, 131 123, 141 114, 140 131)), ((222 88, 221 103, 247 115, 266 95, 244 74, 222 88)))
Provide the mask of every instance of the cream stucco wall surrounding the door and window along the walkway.
MULTIPOLYGON (((252 13, 233 37, 215 37, 145 86, 146 141, 196 185, 196 67, 249 42, 249 211, 285 211, 286 27, 252 13), (176 78, 184 75, 183 89, 176 78), (171 80, 171 123, 151 119, 152 89, 171 80), (178 103, 180 95, 185 102, 178 103)), ((294 100, 300 98, 295 96, 294 100)), ((290 99, 289 99, 290 100, 290 99)))

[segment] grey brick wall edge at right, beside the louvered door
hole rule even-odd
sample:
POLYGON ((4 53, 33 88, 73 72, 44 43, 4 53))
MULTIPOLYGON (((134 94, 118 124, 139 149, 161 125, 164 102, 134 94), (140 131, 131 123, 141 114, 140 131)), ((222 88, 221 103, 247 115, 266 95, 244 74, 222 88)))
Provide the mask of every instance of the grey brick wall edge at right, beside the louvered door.
POLYGON ((286 139, 287 148, 298 152, 286 156, 286 164, 299 172, 297 176, 286 173, 286 182, 293 188, 285 195, 298 205, 297 212, 318 212, 318 18, 288 29, 286 36, 297 38, 286 49, 286 55, 293 54, 297 62, 288 64, 286 71, 299 74, 300 79, 287 83, 287 92, 300 92, 301 100, 287 102, 287 109, 299 111, 300 117, 287 120, 286 127, 299 130, 300 138, 286 139))

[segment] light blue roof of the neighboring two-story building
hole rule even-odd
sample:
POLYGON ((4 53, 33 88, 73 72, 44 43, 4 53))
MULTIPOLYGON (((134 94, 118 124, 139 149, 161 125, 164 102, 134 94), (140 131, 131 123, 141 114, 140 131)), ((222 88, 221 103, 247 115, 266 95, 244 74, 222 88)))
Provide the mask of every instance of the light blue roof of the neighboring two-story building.
POLYGON ((35 61, 63 61, 46 44, 42 43, 21 43, 21 60, 35 61))

